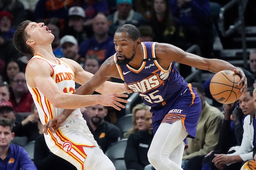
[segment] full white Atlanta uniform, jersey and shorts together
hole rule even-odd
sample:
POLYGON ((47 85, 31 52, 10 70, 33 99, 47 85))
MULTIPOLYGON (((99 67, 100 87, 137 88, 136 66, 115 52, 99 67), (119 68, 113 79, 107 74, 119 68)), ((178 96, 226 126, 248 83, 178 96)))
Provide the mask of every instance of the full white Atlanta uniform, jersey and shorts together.
MULTIPOLYGON (((32 57, 32 59, 35 58, 43 59, 52 68, 51 77, 58 85, 59 91, 71 94, 75 92, 74 71, 66 62, 56 58, 58 60, 58 64, 56 64, 39 55, 32 57)), ((64 111, 62 108, 55 108, 37 87, 31 88, 29 85, 27 86, 38 109, 42 124, 47 123, 50 119, 64 111)), ((44 135, 44 138, 49 150, 75 165, 78 170, 84 170, 86 167, 84 161, 88 153, 85 153, 85 151, 88 151, 90 148, 99 149, 86 121, 82 117, 80 109, 74 110, 55 133, 52 133, 49 129, 47 132, 48 135, 44 135)), ((91 153, 91 155, 93 154, 91 153)), ((104 155, 102 151, 100 154, 104 155)), ((92 161, 96 160, 93 159, 92 161)))

